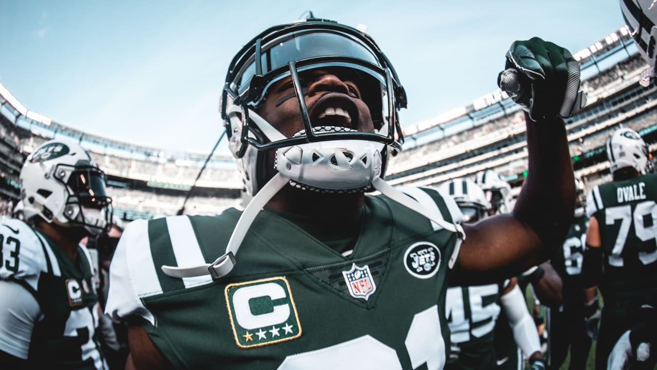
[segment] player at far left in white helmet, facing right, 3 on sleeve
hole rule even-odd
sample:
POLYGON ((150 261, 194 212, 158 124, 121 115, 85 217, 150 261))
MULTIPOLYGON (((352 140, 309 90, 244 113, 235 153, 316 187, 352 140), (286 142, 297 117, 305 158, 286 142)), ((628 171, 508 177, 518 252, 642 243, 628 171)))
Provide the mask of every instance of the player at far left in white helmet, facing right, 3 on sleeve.
POLYGON ((74 142, 37 147, 20 171, 24 221, 0 221, 0 363, 106 369, 93 262, 79 242, 111 217, 105 175, 74 142))

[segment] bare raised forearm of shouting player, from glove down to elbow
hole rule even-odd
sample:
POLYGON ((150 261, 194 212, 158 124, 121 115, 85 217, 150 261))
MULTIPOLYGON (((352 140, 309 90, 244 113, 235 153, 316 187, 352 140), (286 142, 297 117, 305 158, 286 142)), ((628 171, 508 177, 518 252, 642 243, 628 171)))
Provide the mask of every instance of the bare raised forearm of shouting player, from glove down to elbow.
MULTIPOLYGON (((543 246, 561 244, 575 207, 575 180, 566 128, 555 117, 527 121, 528 175, 514 207, 514 215, 529 225, 543 246)), ((541 251, 541 257, 549 250, 541 251)), ((541 261, 545 258, 541 258, 541 261)))

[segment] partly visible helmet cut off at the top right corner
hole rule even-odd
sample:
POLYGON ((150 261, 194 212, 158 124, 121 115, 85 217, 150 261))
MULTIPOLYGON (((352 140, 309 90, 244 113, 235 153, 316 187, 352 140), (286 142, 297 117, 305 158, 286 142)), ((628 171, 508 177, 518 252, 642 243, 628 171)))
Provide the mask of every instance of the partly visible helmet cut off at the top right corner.
POLYGON ((648 63, 648 68, 641 72, 641 86, 647 87, 650 80, 656 76, 655 40, 657 40, 657 7, 654 0, 620 0, 620 9, 625 18, 625 24, 634 38, 639 53, 648 63))

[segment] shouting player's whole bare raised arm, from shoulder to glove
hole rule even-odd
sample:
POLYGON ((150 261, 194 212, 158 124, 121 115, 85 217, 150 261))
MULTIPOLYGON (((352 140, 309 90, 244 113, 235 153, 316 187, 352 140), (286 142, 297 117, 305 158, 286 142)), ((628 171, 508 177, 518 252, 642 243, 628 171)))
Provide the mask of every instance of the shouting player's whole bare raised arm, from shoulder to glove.
POLYGON ((513 212, 463 225, 466 240, 457 285, 517 276, 549 258, 566 237, 575 208, 575 180, 564 122, 527 122, 528 176, 513 212))

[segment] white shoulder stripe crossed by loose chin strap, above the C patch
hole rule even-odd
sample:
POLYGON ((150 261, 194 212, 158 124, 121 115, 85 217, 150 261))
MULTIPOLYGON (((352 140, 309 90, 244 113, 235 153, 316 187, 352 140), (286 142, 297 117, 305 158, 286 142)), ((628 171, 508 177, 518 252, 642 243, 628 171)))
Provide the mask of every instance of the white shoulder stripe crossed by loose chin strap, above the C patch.
MULTIPOLYGON (((198 246, 196 233, 189 217, 167 217, 166 223, 176 265, 181 267, 204 265, 206 261, 200 246, 198 246)), ((212 282, 212 276, 210 275, 183 278, 185 288, 208 284, 209 282, 212 282)))

